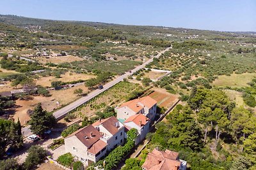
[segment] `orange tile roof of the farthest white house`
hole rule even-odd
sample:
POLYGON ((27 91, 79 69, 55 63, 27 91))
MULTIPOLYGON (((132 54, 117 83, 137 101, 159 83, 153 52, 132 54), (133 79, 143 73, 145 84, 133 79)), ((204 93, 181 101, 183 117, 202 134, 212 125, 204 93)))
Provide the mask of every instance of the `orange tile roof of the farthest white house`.
POLYGON ((157 101, 152 99, 152 97, 145 96, 145 97, 141 97, 138 99, 134 99, 132 101, 127 101, 127 102, 123 103, 120 106, 120 108, 127 106, 131 110, 138 113, 140 110, 142 110, 144 108, 144 106, 147 108, 152 108, 152 106, 154 106, 154 104, 156 104, 156 103, 157 103, 157 101))

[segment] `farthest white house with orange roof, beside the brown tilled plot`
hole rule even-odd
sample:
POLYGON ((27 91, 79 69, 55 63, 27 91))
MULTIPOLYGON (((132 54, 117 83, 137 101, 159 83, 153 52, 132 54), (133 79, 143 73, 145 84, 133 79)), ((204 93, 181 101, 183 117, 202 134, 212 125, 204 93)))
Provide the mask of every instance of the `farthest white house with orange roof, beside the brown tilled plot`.
POLYGON ((150 96, 141 97, 132 101, 127 101, 120 107, 115 108, 117 118, 120 122, 124 122, 127 118, 136 115, 143 114, 150 119, 150 122, 156 117, 157 101, 150 96))

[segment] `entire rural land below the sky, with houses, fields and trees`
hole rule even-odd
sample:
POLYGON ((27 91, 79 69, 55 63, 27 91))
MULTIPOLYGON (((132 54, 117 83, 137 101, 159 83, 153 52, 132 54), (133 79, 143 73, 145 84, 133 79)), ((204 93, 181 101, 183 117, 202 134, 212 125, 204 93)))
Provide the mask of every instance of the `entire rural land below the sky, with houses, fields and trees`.
POLYGON ((0 170, 256 169, 256 32, 0 15, 0 170))

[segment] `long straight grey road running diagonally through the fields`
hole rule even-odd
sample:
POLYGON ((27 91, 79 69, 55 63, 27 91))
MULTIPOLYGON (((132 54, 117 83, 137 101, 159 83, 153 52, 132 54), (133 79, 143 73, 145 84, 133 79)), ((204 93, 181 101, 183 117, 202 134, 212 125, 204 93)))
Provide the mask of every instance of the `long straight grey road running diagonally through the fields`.
MULTIPOLYGON (((140 66, 135 67, 134 69, 131 70, 131 73, 130 72, 125 73, 122 76, 119 76, 118 78, 116 78, 115 80, 110 81, 109 83, 106 83, 106 85, 103 86, 103 89, 101 89, 101 90, 99 90, 99 89, 94 90, 93 92, 91 92, 87 96, 81 97, 77 101, 74 101, 73 103, 68 104, 68 106, 65 106, 65 107, 61 108, 60 110, 55 111, 53 113, 54 117, 57 120, 65 117, 65 115, 67 115, 67 113, 69 111, 72 111, 72 110, 76 109, 78 106, 80 106, 81 104, 84 104, 84 103, 90 101, 90 99, 92 99, 93 97, 99 95, 100 93, 108 90, 110 87, 113 87, 113 85, 115 85, 116 83, 119 83, 120 81, 124 80, 124 78, 127 78, 128 76, 130 76, 134 72, 144 68, 147 64, 152 62, 154 58, 159 58, 162 53, 168 51, 170 48, 172 48, 172 47, 166 48, 162 52, 159 52, 155 57, 152 57, 151 59, 147 60, 146 62, 144 62, 140 66)), ((63 97, 68 97, 68 96, 65 96, 65 94, 63 94, 63 97)), ((22 133, 24 134, 24 136, 29 136, 29 135, 32 134, 30 129, 29 129, 29 126, 22 128, 22 133)))

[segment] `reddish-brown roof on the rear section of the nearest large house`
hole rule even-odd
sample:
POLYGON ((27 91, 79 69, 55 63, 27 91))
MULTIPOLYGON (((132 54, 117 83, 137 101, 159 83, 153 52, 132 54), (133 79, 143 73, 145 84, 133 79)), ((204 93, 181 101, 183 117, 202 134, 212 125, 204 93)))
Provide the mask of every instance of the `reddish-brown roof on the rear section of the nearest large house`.
POLYGON ((111 133, 112 135, 116 134, 119 131, 119 126, 116 127, 116 123, 118 125, 120 125, 118 119, 116 117, 109 117, 103 120, 99 120, 97 122, 95 122, 93 125, 93 127, 102 125, 105 129, 107 129, 107 131, 109 131, 109 133, 111 133))

